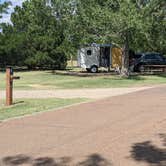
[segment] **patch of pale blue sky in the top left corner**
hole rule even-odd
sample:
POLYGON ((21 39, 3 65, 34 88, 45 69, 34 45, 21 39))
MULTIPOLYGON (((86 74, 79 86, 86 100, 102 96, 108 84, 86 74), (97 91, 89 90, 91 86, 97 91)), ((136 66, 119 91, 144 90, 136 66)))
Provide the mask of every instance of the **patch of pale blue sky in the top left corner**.
MULTIPOLYGON (((9 0, 0 0, 0 3, 2 4, 5 1, 9 1, 9 0)), ((14 11, 14 7, 21 6, 22 2, 25 0, 10 0, 10 1, 11 1, 12 5, 9 6, 8 14, 3 14, 3 18, 0 19, 0 23, 2 23, 2 22, 9 22, 10 23, 10 15, 14 11)))

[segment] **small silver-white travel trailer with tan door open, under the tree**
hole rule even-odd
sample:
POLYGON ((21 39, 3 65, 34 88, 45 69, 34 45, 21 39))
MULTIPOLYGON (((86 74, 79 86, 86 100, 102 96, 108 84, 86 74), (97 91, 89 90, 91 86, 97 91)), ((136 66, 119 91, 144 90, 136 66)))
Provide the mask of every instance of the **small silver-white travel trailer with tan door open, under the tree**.
POLYGON ((78 50, 78 66, 92 73, 99 67, 121 67, 121 58, 121 49, 112 44, 92 44, 78 50))

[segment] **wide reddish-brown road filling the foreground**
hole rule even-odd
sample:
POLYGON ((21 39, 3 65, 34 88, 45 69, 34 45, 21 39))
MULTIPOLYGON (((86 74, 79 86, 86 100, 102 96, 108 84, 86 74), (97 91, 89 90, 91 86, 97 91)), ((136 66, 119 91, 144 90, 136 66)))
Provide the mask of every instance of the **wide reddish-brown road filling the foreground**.
POLYGON ((0 123, 0 166, 166 166, 166 86, 0 123))

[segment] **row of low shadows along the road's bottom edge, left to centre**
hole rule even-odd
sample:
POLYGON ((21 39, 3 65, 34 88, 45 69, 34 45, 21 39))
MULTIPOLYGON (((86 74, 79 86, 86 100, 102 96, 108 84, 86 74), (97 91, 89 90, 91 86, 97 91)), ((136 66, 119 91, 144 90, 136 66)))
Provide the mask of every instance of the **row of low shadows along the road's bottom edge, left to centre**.
MULTIPOLYGON (((27 155, 16 155, 5 157, 1 160, 3 166, 19 166, 28 164, 30 166, 69 166, 71 165, 71 157, 50 158, 40 157, 33 158, 27 155)), ((77 163, 76 166, 111 166, 112 164, 99 154, 92 154, 84 161, 77 163)))

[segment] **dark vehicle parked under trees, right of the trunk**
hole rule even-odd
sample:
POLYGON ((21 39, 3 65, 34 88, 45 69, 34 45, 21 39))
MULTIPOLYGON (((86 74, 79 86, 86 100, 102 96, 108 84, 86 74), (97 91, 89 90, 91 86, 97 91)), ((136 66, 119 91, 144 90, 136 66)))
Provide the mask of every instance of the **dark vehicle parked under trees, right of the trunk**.
POLYGON ((136 54, 136 58, 131 61, 130 68, 136 72, 143 72, 146 68, 166 69, 166 57, 159 53, 136 54))

